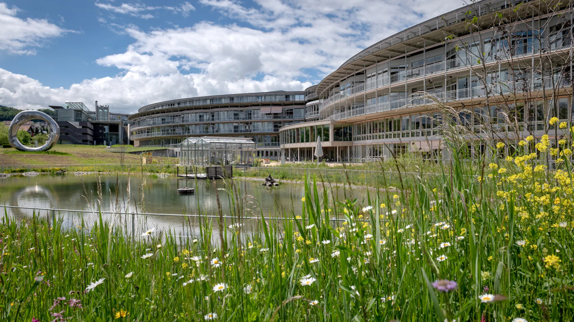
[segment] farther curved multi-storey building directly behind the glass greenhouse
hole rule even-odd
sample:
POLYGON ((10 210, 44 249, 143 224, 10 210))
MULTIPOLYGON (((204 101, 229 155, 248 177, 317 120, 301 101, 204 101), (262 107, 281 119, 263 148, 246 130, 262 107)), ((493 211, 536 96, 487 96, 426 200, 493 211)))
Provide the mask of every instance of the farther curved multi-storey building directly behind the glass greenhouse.
POLYGON ((178 148, 189 137, 238 136, 257 156, 277 159, 279 130, 305 120, 305 93, 265 92, 192 97, 146 105, 129 116, 134 146, 178 148))

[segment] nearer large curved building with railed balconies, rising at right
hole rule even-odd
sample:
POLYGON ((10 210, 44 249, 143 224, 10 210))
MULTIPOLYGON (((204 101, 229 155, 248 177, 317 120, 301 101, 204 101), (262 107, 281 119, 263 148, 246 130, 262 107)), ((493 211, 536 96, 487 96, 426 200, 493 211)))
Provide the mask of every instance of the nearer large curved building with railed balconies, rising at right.
POLYGON ((312 160, 320 136, 327 160, 437 160, 447 130, 470 157, 529 135, 556 146, 548 120, 572 119, 572 7, 478 1, 387 37, 305 91, 305 123, 280 129, 281 151, 312 160))

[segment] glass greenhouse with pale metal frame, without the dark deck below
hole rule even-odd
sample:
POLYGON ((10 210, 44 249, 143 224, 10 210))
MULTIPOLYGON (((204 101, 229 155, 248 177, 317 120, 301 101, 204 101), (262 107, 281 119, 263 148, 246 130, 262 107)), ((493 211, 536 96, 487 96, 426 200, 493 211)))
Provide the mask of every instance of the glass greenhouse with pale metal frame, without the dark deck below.
POLYGON ((182 166, 228 166, 253 164, 257 147, 248 138, 203 136, 187 138, 180 144, 182 166))

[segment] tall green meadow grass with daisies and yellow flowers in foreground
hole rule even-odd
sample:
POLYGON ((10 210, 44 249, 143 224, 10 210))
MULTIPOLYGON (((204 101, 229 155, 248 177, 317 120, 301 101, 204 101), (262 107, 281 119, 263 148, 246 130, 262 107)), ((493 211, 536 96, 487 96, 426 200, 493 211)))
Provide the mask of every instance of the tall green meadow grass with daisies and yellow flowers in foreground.
MULTIPOLYGON (((537 166, 531 154, 492 160, 477 170, 455 153, 440 176, 404 175, 400 192, 369 191, 365 204, 352 198, 352 190, 343 201, 329 198, 315 175, 305 182, 301 201, 293 201, 302 203, 301 216, 278 205, 285 218, 261 219, 250 231, 243 230, 241 218, 254 208, 231 181, 217 196, 229 198, 231 206, 219 207, 219 221, 200 221, 197 239, 169 231, 132 239, 103 218, 89 229, 64 230, 59 222, 37 217, 17 222, 5 215, 0 316, 6 321, 572 320, 568 144, 554 156, 563 152, 562 170, 555 172, 537 166), (236 219, 224 221, 224 215, 236 219), (87 292, 101 278, 102 284, 87 292)), ((553 153, 539 147, 542 154, 553 153)), ((387 187, 384 176, 381 180, 387 187)), ((258 215, 269 217, 261 210, 258 215)))

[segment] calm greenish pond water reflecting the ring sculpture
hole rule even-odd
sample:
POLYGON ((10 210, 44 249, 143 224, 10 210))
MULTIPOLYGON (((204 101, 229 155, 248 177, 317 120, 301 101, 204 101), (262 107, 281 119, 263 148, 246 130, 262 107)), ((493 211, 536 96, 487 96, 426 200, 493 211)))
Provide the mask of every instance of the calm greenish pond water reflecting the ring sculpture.
MULTIPOLYGON (((304 185, 281 183, 280 187, 266 188, 261 186, 263 180, 234 179, 234 186, 239 190, 239 198, 245 208, 253 210, 254 216, 292 217, 301 214, 301 197, 304 195, 304 185), (259 211, 261 210, 261 211, 259 211)), ((366 199, 365 190, 346 190, 342 187, 328 187, 329 199, 342 200, 347 197, 366 199)), ((216 193, 219 195, 223 215, 230 215, 230 182, 223 180, 195 180, 168 176, 152 178, 150 176, 127 175, 37 175, 10 176, 0 178, 0 205, 30 207, 34 209, 70 209, 121 212, 121 213, 157 213, 157 214, 186 214, 186 215, 217 215, 218 204, 216 193), (178 187, 195 187, 193 195, 177 194, 178 187)), ((237 195, 237 194, 236 194, 237 195)), ((3 209, 2 209, 3 210, 3 209)), ((32 210, 9 209, 9 213, 17 217, 32 217, 32 210)), ((44 211, 43 213, 48 213, 44 211)), ((68 226, 76 225, 77 214, 67 215, 64 219, 68 226), (73 218, 72 218, 73 217, 73 218)), ((246 212, 244 216, 250 215, 246 212)), ((84 217, 87 215, 84 214, 84 217)), ((107 218, 113 215, 107 215, 107 218)), ((126 215, 126 218, 130 217, 126 215)), ((174 216, 145 216, 146 222, 138 218, 126 220, 138 221, 137 224, 123 222, 126 229, 131 225, 145 230, 153 226, 158 229, 183 229, 184 220, 174 216), (152 223, 148 221, 152 220, 152 223)), ((96 220, 96 214, 88 221, 96 220)), ((189 225, 188 225, 189 226, 189 225)), ((197 226, 197 225, 192 225, 197 226)))

